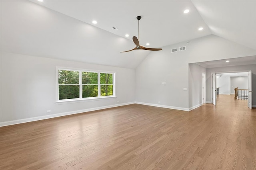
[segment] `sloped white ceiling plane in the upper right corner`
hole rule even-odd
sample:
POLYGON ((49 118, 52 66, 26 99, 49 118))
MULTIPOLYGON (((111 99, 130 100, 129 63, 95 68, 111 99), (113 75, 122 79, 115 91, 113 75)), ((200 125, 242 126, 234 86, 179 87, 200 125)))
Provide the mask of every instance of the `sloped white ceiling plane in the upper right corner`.
POLYGON ((192 0, 214 35, 256 49, 255 0, 192 0))

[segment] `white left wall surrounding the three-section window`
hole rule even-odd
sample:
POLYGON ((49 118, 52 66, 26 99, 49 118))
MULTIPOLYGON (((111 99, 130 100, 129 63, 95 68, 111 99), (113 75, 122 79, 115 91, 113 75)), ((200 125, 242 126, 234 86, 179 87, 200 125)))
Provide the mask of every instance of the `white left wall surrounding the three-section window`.
POLYGON ((81 113, 135 101, 135 70, 13 53, 0 53, 2 125, 81 113), (70 104, 56 102, 56 66, 116 72, 116 98, 70 104), (119 103, 117 103, 119 101, 119 103), (47 113, 46 110, 51 110, 47 113), (33 119, 34 117, 37 117, 33 119), (22 120, 21 120, 22 119, 22 120), (24 120, 23 120, 24 119, 24 120), (10 121, 10 122, 8 122, 10 121))

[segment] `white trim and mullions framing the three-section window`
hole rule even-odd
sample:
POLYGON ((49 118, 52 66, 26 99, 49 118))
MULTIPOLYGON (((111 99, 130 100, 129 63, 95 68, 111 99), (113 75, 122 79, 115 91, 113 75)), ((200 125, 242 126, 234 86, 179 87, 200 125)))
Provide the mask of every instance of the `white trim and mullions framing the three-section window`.
POLYGON ((56 66, 56 102, 55 104, 67 104, 67 103, 77 103, 77 102, 86 102, 86 101, 95 101, 95 100, 107 100, 111 98, 116 98, 116 72, 104 71, 104 70, 92 70, 92 69, 83 69, 83 68, 69 68, 56 66), (59 81, 58 81, 58 70, 70 70, 70 71, 79 71, 79 96, 80 98, 76 99, 63 99, 59 100, 59 81), (95 84, 98 85, 98 97, 82 98, 82 72, 97 72, 98 73, 98 82, 100 83, 100 73, 113 74, 113 84, 95 84), (100 86, 101 85, 113 85, 113 95, 112 96, 100 96, 100 86))

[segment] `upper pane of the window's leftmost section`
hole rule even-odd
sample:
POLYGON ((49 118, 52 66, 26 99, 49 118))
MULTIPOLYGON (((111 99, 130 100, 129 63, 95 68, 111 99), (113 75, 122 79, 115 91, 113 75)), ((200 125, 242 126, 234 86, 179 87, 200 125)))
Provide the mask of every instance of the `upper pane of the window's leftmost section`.
POLYGON ((59 84, 79 84, 79 71, 59 70, 59 84))

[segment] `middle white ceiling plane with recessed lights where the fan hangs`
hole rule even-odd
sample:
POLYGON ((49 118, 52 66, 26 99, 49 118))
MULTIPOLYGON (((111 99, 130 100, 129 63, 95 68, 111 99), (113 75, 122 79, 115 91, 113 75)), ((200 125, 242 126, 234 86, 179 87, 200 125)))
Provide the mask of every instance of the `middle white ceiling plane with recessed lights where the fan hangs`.
POLYGON ((37 4, 58 11, 72 18, 125 37, 138 37, 137 16, 140 20, 140 43, 150 47, 195 39, 212 32, 190 0, 51 0, 37 4), (188 14, 183 11, 189 9, 188 14), (112 27, 117 27, 118 30, 112 27), (204 27, 204 31, 198 31, 204 27))

